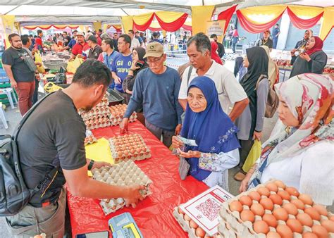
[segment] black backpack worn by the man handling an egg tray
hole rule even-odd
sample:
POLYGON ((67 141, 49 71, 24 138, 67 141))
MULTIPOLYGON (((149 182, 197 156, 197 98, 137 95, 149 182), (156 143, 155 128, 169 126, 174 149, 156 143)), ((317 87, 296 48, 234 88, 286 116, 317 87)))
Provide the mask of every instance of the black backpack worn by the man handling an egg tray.
POLYGON ((10 216, 19 213, 32 196, 39 192, 44 187, 44 184, 50 182, 58 171, 58 167, 53 168, 45 175, 44 180, 40 184, 34 189, 28 189, 23 179, 18 156, 18 133, 27 118, 47 96, 44 96, 43 99, 25 113, 14 131, 13 137, 10 134, 0 135, 0 216, 10 216))

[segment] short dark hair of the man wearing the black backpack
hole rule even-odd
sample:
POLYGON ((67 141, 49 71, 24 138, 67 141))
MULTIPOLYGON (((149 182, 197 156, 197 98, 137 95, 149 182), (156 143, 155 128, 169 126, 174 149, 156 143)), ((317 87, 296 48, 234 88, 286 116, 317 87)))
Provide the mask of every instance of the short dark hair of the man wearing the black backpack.
POLYGON ((111 72, 104 63, 88 59, 75 71, 72 82, 86 88, 94 84, 104 84, 104 87, 108 87, 111 82, 111 72))

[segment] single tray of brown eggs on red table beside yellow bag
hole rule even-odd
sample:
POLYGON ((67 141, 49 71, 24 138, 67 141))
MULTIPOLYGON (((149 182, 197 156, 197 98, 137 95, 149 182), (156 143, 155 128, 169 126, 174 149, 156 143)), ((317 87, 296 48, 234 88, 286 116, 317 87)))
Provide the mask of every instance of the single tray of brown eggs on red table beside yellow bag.
POLYGON ((115 163, 141 161, 151 158, 151 150, 140 134, 125 134, 109 139, 111 154, 115 163))

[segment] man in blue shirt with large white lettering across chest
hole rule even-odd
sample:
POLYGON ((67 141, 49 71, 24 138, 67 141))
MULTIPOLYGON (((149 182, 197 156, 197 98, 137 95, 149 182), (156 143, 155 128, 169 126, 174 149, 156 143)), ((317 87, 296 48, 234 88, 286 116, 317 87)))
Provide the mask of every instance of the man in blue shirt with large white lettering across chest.
POLYGON ((129 35, 120 35, 118 39, 119 55, 113 60, 111 65, 111 75, 115 82, 115 89, 121 94, 124 93, 122 82, 128 75, 132 64, 132 53, 130 51, 131 38, 129 35))

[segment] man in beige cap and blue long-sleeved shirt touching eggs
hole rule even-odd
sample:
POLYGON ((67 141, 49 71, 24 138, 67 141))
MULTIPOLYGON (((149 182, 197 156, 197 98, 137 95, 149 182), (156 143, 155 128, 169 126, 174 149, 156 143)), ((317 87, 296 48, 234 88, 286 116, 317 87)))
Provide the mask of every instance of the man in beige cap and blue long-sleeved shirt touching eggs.
POLYGON ((183 109, 178 103, 180 76, 178 71, 163 65, 166 54, 163 53, 162 44, 149 43, 144 58, 147 58, 149 68, 137 74, 120 130, 128 131, 130 115, 138 108, 143 108, 147 129, 158 139, 162 136, 163 144, 169 148, 173 135, 181 130, 183 109))

